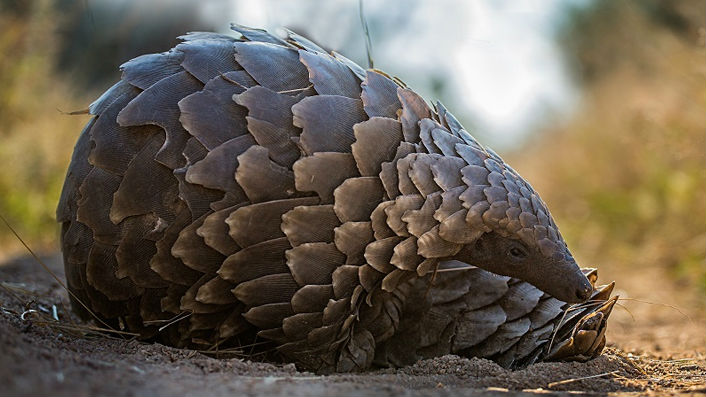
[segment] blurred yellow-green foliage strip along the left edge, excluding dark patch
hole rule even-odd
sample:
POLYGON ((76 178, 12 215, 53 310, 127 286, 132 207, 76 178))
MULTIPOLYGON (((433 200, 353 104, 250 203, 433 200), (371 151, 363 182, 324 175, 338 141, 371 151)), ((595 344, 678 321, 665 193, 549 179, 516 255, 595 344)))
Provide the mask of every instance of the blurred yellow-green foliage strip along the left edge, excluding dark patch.
MULTIPOLYGON (((64 116, 83 102, 53 68, 53 9, 47 1, 3 2, 0 12, 0 212, 40 248, 53 243, 54 207, 81 116, 64 116)), ((85 106, 85 105, 83 105, 85 106)), ((18 242, 0 228, 2 251, 18 242)))

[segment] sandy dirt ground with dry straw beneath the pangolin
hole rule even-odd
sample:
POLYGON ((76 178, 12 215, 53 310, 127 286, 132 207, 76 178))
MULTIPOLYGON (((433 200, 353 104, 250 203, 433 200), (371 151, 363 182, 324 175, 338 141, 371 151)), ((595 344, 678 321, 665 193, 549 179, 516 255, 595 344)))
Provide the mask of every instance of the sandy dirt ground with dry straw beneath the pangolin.
MULTIPOLYGON (((63 279, 58 255, 43 261, 63 279)), ((628 299, 613 310, 609 347, 590 362, 513 372, 449 355, 397 370, 317 376, 292 364, 214 359, 87 333, 85 324, 73 323, 57 281, 20 257, 0 264, 0 395, 705 395, 704 297, 664 283, 657 269, 601 269, 600 278, 615 279, 628 299), (51 320, 54 308, 58 322, 51 320)))

